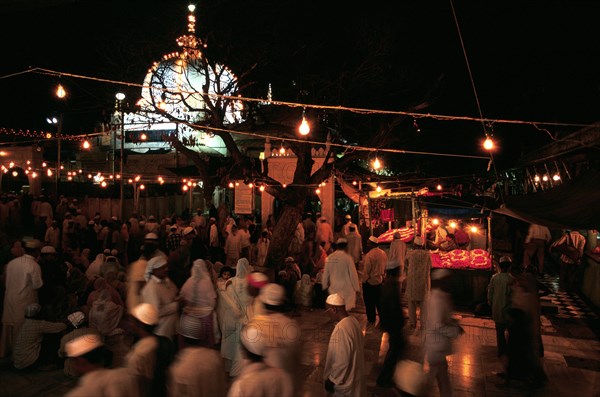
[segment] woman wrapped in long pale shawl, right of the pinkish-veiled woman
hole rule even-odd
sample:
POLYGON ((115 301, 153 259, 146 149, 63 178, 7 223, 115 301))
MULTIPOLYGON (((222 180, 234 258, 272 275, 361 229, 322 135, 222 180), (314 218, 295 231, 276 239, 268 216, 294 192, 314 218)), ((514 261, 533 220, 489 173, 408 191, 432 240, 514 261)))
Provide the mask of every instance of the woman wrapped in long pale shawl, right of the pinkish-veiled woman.
POLYGON ((248 259, 238 260, 235 277, 225 283, 225 288, 219 288, 217 312, 221 328, 221 356, 226 359, 225 369, 231 377, 239 375, 243 367, 240 332, 248 322, 248 307, 252 304, 246 279, 251 271, 248 259))

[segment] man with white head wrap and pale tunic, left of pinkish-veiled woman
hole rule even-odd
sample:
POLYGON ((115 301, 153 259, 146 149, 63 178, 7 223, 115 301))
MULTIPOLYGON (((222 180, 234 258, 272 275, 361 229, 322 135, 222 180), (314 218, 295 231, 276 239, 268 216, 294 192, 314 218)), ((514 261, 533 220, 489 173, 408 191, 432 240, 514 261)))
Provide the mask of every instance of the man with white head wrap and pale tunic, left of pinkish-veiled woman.
POLYGON ((179 322, 179 303, 175 284, 168 277, 169 265, 162 256, 148 261, 146 285, 140 291, 141 301, 150 303, 158 310, 158 325, 154 333, 173 340, 179 322))

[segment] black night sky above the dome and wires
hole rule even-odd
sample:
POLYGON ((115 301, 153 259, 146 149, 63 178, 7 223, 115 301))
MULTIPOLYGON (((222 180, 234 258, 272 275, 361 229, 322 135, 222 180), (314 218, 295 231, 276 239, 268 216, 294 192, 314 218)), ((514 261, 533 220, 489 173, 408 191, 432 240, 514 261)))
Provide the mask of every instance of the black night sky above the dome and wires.
MULTIPOLYGON (((0 75, 43 67, 141 83, 152 61, 177 50, 187 2, 173 0, 4 0, 0 75)), ((196 3, 208 54, 238 75, 255 65, 246 92, 275 99, 423 113, 479 115, 449 1, 244 1, 196 3), (389 4, 388 4, 389 3, 389 4)), ((455 0, 484 117, 587 124, 600 109, 598 1, 455 0)), ((65 130, 90 132, 106 117, 118 86, 62 78, 0 79, 0 127, 47 129, 64 113, 65 130)), ((137 89, 125 90, 128 98, 137 89)), ((397 147, 482 155, 477 122, 407 119, 397 147)), ((575 128, 550 127, 564 135, 575 128)), ((549 143, 532 126, 495 124, 498 164, 549 143)), ((365 134, 370 134, 366 131, 365 134)), ((0 136, 0 139, 3 139, 0 136)), ((435 166, 437 159, 423 159, 435 166)), ((446 163, 444 168, 448 167, 446 163)), ((462 168, 485 168, 466 162, 462 168)))

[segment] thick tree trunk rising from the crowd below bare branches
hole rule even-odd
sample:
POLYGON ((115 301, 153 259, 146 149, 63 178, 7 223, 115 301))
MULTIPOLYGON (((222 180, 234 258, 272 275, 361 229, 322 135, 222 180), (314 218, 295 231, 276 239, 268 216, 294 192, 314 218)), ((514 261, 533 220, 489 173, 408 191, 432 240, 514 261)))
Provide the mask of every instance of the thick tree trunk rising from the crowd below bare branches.
MULTIPOLYGON (((295 205, 286 203, 283 206, 281 216, 273 229, 271 245, 269 246, 269 253, 265 261, 266 266, 271 270, 270 273, 273 273, 273 275, 274 272, 283 266, 283 261, 288 255, 288 247, 294 237, 296 227, 302 221, 303 209, 304 202, 295 205)), ((273 279, 272 275, 269 276, 273 279)))

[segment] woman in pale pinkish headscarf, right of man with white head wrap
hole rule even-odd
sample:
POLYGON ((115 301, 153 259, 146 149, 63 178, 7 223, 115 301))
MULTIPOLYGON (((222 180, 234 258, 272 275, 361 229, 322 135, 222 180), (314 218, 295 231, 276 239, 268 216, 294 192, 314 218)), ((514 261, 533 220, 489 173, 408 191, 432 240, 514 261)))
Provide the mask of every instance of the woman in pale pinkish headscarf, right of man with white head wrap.
POLYGON ((212 347, 215 344, 213 311, 217 294, 203 259, 194 261, 192 275, 181 287, 179 295, 183 305, 179 319, 180 346, 184 346, 183 338, 189 338, 195 339, 197 345, 212 347))

